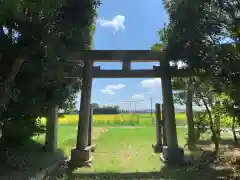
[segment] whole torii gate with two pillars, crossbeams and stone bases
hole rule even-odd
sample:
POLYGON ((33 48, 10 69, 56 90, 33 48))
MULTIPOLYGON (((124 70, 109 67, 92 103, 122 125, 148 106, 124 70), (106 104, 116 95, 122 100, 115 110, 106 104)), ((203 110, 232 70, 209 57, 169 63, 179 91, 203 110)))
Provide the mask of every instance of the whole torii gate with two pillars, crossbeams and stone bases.
POLYGON ((84 61, 84 66, 77 72, 67 74, 67 78, 82 77, 82 92, 80 102, 78 134, 76 148, 71 152, 71 164, 85 166, 91 163, 91 147, 88 146, 89 117, 91 115, 91 91, 93 78, 153 78, 162 80, 162 94, 164 104, 164 117, 166 126, 167 146, 163 147, 164 157, 168 162, 182 161, 184 153, 178 146, 176 120, 173 104, 171 77, 189 77, 195 75, 187 69, 171 67, 165 60, 164 53, 154 51, 119 51, 119 50, 94 50, 82 51, 74 55, 71 62, 84 61), (121 70, 102 70, 100 66, 94 66, 94 62, 122 62, 121 70), (153 69, 132 70, 131 62, 160 62, 160 66, 153 69))

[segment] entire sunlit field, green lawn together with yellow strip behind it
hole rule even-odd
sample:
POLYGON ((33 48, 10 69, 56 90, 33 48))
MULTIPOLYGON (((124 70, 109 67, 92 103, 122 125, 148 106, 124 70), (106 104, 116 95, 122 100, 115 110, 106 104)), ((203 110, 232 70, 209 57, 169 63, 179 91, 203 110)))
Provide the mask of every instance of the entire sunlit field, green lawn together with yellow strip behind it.
MULTIPOLYGON (((152 144, 156 143, 156 129, 150 114, 94 115, 93 153, 91 168, 77 169, 76 173, 154 172, 163 166, 152 144), (132 125, 132 126, 129 126, 132 125)), ((185 123, 185 114, 176 115, 177 122, 185 123)), ((42 122, 45 123, 45 119, 42 122)), ((76 146, 78 115, 59 118, 58 147, 66 156, 76 146)), ((186 128, 178 128, 180 145, 185 144, 186 128)), ((44 135, 34 137, 44 143, 44 135)))

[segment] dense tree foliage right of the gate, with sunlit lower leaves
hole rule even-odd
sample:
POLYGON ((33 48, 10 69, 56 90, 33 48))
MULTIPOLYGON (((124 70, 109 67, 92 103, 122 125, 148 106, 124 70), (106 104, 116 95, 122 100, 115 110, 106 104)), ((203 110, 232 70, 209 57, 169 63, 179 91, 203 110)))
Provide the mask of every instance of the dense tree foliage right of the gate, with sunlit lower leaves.
POLYGON ((240 119, 240 2, 164 0, 164 5, 169 23, 153 49, 164 48, 167 60, 205 72, 202 77, 174 78, 173 87, 185 90, 175 96, 178 102, 188 104, 191 98, 205 107, 202 117, 217 147, 221 119, 232 117, 233 126, 240 119))

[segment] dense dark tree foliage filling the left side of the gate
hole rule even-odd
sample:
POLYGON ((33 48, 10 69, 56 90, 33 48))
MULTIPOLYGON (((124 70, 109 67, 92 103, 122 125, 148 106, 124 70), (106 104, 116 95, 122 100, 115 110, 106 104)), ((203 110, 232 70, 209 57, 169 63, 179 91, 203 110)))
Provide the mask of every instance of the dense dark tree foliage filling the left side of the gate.
POLYGON ((37 117, 79 90, 81 81, 64 76, 81 63, 67 60, 91 48, 97 6, 96 0, 1 1, 2 142, 19 142, 37 132, 37 117))

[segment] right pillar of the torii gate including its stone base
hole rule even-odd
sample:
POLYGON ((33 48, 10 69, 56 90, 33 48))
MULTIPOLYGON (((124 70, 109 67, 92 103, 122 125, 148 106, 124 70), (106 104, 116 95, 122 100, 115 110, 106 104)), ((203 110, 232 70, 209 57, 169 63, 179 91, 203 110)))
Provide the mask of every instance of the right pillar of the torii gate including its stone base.
POLYGON ((163 71, 161 81, 165 127, 167 135, 167 146, 163 147, 163 159, 166 163, 178 164, 184 161, 184 151, 178 146, 169 61, 161 61, 160 68, 163 71))

